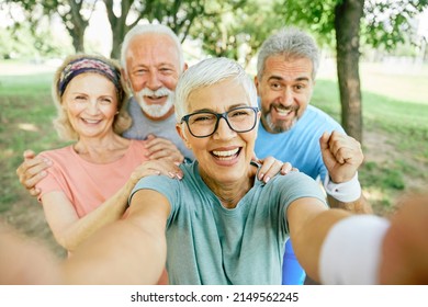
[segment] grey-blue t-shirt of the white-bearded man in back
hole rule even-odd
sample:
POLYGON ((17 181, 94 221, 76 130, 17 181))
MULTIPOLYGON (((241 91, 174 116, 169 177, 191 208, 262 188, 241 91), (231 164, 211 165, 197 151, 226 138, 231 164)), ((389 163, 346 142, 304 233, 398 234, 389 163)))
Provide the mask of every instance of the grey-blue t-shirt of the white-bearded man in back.
POLYGON ((142 107, 134 99, 129 99, 128 110, 133 118, 132 126, 122 135, 126 138, 146 139, 147 135, 153 134, 157 137, 166 138, 172 141, 185 158, 193 159, 193 152, 185 147, 183 140, 176 130, 176 116, 172 114, 162 121, 151 121, 143 114, 142 107))

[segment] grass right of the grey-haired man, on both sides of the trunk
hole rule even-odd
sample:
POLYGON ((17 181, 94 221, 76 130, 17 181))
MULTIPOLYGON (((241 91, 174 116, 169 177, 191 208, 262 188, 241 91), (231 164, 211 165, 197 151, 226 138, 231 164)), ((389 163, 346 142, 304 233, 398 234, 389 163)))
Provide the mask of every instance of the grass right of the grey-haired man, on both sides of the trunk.
MULTIPOLYGON (((363 78, 364 73, 362 73, 363 78)), ((427 75, 428 77, 428 75, 427 75)), ((421 78, 394 77, 398 87, 407 80, 415 89, 425 89, 421 78)), ((387 78, 391 81, 391 77, 387 78)), ((425 82, 427 79, 425 79, 425 82)), ((406 86, 407 88, 409 86, 406 86)), ((374 88, 374 86, 372 86, 374 88)), ((380 92, 385 92, 381 88, 380 92)), ((391 212, 402 194, 420 191, 428 182, 428 92, 417 91, 415 101, 398 100, 362 91, 363 151, 365 162, 360 181, 375 211, 391 212), (421 101, 425 101, 423 103, 421 101)), ((339 92, 336 80, 318 80, 314 105, 340 122, 339 92)))

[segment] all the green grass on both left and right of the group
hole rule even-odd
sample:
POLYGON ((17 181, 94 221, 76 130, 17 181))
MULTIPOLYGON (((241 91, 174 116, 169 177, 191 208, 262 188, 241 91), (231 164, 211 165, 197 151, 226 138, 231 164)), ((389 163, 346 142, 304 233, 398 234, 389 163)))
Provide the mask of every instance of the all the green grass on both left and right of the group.
MULTIPOLYGON (((372 79, 380 86, 371 87, 379 91, 363 88, 362 93, 365 162, 359 174, 375 212, 384 214, 394 209, 396 198, 403 193, 427 186, 428 94, 421 90, 427 86, 427 78, 385 77, 387 87, 395 91, 420 89, 408 95, 412 100, 406 100, 403 99, 405 93, 402 98, 396 93, 387 94, 382 76, 375 77, 372 79), (392 86, 391 80, 396 84, 392 86)), ((362 79, 367 80, 364 71, 362 79)), ((27 148, 38 152, 64 145, 52 126, 55 107, 50 100, 50 80, 52 73, 0 76, 0 215, 18 228, 20 225, 29 227, 23 224, 34 218, 18 216, 31 215, 36 207, 36 201, 22 189, 15 174, 22 152, 27 148)), ((312 104, 340 121, 339 93, 334 78, 318 79, 312 104)), ((40 211, 37 214, 43 216, 40 211)), ((34 229, 38 228, 33 227, 31 231, 38 231, 34 229)))

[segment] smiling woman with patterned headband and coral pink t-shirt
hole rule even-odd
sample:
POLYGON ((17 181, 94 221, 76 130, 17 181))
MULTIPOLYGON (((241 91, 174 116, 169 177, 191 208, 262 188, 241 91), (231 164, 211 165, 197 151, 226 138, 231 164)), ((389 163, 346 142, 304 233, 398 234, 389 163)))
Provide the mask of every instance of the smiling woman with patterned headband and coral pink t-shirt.
POLYGON ((131 125, 128 94, 120 66, 100 56, 68 57, 53 84, 60 137, 74 140, 44 151, 53 161, 37 184, 46 220, 69 253, 102 226, 123 217, 138 179, 148 174, 181 178, 169 160, 148 161, 144 140, 121 136, 131 125))

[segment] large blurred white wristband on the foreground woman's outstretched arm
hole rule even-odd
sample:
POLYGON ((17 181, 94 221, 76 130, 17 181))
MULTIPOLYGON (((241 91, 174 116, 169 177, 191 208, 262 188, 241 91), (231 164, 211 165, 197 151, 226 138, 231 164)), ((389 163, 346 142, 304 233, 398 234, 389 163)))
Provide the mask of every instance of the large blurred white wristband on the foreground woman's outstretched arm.
POLYGON ((334 225, 320 249, 322 283, 378 284, 382 242, 388 227, 386 218, 375 215, 354 215, 334 225))

